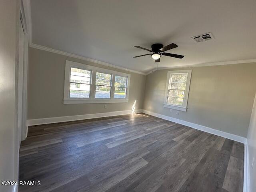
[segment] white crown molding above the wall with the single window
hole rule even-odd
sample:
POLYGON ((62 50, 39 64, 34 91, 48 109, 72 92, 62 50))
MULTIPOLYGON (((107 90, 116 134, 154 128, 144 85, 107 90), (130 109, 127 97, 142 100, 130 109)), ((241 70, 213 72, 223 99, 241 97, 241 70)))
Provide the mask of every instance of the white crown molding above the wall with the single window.
POLYGON ((190 68, 190 67, 206 67, 206 66, 217 66, 217 65, 231 65, 231 64, 254 63, 254 62, 256 63, 256 59, 212 62, 212 63, 202 63, 202 64, 182 65, 182 66, 171 66, 171 67, 160 67, 160 68, 154 68, 154 69, 146 72, 146 75, 148 75, 148 74, 150 74, 152 72, 155 72, 157 70, 176 69, 176 68, 190 68))

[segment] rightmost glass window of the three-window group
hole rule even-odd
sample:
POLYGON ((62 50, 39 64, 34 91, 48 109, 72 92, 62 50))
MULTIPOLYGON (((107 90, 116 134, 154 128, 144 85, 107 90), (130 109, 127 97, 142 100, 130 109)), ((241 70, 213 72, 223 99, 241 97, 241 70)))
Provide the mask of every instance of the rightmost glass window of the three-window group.
POLYGON ((115 76, 114 98, 126 98, 127 77, 115 76))

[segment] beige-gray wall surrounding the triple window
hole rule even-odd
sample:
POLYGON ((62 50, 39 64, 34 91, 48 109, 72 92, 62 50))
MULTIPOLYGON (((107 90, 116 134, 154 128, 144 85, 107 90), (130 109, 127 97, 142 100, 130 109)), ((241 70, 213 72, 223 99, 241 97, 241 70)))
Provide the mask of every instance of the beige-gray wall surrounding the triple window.
POLYGON ((35 48, 29 50, 28 119, 73 116, 143 108, 146 76, 35 48), (128 103, 63 104, 65 61, 131 74, 128 103))

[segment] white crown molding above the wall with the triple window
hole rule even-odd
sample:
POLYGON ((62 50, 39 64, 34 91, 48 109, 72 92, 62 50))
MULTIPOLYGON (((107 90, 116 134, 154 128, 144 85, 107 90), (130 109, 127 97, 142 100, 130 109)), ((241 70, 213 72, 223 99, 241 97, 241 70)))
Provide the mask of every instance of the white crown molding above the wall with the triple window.
POLYGON ((146 75, 145 73, 140 72, 140 71, 127 69, 127 68, 112 65, 112 64, 109 64, 109 63, 106 63, 106 62, 103 62, 103 61, 98 61, 98 60, 95 60, 95 59, 79 56, 79 55, 64 52, 64 51, 59 51, 59 50, 56 50, 56 49, 48 48, 48 47, 37 45, 37 44, 34 44, 34 43, 30 44, 30 47, 40 49, 40 50, 44 50, 44 51, 48 51, 48 52, 52 52, 52 53, 56 53, 56 54, 60 54, 60 55, 73 57, 73 58, 78 58, 78 59, 89 61, 89 62, 98 63, 98 64, 101 64, 101 65, 108 66, 108 67, 113 67, 113 68, 116 68, 116 69, 121 69, 121 70, 129 71, 129 72, 133 72, 133 73, 138 73, 138 74, 141 74, 141 75, 146 75))

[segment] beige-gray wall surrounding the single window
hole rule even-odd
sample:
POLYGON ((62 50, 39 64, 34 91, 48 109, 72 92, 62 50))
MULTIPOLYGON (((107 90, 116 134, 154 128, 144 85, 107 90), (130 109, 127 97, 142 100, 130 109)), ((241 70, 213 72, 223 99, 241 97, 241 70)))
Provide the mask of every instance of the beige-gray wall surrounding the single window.
POLYGON ((144 109, 238 136, 247 136, 256 91, 256 64, 175 68, 192 69, 187 112, 164 108, 168 70, 146 77, 144 109))

